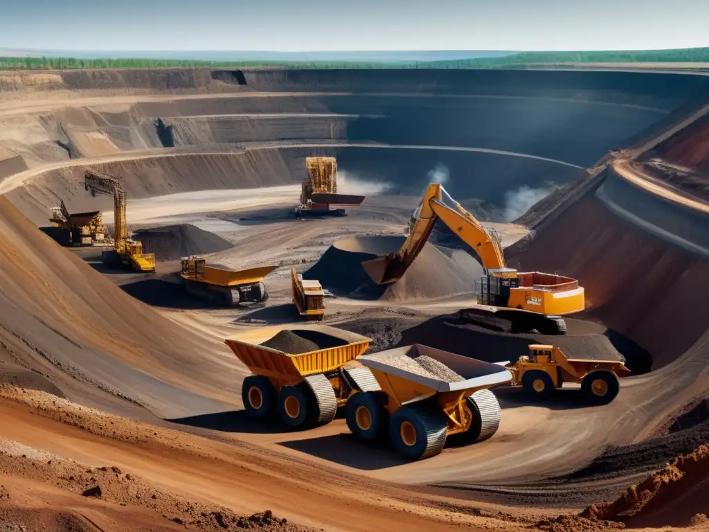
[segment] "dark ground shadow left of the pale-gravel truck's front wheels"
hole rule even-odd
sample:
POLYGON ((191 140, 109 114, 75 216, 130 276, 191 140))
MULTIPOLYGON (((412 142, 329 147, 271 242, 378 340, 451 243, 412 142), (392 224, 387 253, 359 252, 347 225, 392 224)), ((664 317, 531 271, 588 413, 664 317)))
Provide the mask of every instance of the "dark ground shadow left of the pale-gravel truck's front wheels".
POLYGON ((386 469, 408 463, 408 460, 399 458, 389 445, 365 445, 355 440, 350 433, 283 441, 279 445, 362 471, 386 469))

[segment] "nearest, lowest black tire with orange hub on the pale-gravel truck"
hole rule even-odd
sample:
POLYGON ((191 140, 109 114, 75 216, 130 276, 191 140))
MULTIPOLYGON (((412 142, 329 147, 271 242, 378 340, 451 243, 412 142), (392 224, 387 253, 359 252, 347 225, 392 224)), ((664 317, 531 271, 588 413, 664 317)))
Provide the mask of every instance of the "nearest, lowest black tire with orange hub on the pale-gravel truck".
POLYGON ((407 460, 423 460, 443 450, 448 425, 437 402, 402 406, 389 421, 391 445, 407 460))

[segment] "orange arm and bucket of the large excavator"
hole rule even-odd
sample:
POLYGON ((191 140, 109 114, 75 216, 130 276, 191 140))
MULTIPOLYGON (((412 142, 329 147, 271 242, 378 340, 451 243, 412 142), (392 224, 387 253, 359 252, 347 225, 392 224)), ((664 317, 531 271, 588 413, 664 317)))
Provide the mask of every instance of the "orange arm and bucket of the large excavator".
POLYGON ((502 245, 498 239, 452 199, 440 184, 432 183, 426 188, 423 201, 411 217, 408 237, 401 248, 386 257, 362 262, 369 277, 376 284, 398 281, 423 249, 433 226, 439 220, 476 251, 486 270, 505 267, 502 245))

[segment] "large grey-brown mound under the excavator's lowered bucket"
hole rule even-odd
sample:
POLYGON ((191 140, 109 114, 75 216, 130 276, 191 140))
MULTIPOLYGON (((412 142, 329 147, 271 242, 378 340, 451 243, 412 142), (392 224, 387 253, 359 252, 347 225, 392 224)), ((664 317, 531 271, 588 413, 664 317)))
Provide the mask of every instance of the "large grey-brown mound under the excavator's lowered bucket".
POLYGON ((403 236, 363 236, 340 240, 323 253, 304 279, 318 279, 334 294, 354 299, 410 301, 467 294, 475 282, 454 260, 432 244, 426 244, 406 274, 395 284, 374 284, 362 267, 362 261, 394 253, 403 236))

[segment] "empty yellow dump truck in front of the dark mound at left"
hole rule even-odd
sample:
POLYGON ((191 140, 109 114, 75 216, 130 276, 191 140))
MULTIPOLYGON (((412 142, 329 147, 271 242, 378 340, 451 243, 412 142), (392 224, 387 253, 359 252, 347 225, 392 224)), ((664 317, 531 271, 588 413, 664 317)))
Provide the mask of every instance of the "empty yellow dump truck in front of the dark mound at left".
POLYGON ((277 266, 231 270, 208 265, 206 259, 182 257, 180 276, 187 294, 218 305, 233 306, 245 302, 266 301, 268 290, 263 279, 277 266))

